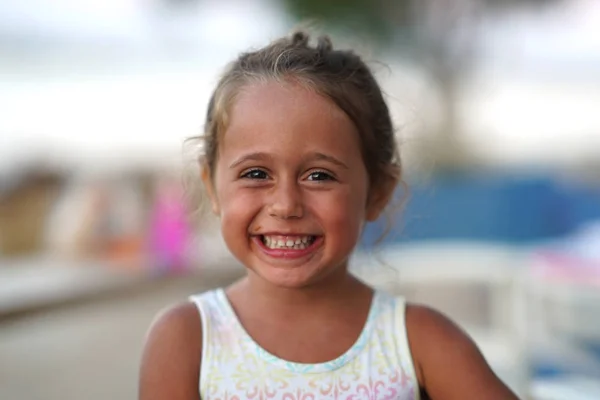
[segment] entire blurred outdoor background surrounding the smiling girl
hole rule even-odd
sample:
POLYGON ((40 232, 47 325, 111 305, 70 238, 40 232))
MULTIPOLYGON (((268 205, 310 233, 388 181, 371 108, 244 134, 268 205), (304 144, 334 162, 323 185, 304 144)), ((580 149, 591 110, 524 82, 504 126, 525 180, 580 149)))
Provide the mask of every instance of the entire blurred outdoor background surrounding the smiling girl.
POLYGON ((4 0, 1 399, 135 398, 153 316, 243 274, 183 143, 225 63, 307 20, 373 67, 410 186, 355 273, 523 398, 600 398, 600 2, 4 0))

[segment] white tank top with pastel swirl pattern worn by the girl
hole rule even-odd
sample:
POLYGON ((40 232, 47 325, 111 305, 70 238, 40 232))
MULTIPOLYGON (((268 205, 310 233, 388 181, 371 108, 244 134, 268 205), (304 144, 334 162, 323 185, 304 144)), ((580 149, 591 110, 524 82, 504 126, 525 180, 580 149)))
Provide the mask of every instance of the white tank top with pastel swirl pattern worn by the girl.
POLYGON ((405 302, 375 292, 354 345, 335 360, 295 363, 260 347, 222 289, 190 297, 202 319, 202 400, 413 400, 419 398, 405 302))

